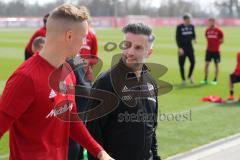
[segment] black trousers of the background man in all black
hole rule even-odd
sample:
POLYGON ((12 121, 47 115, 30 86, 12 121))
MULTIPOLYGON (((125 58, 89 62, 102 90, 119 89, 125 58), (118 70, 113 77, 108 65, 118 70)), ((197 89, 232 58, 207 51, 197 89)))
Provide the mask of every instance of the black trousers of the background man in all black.
POLYGON ((180 66, 181 78, 182 78, 182 80, 186 80, 185 70, 184 70, 185 60, 186 60, 186 58, 188 58, 190 61, 190 68, 189 68, 189 72, 188 72, 188 78, 190 78, 193 74, 193 70, 194 70, 194 66, 195 66, 195 56, 194 56, 194 50, 192 48, 183 49, 183 50, 184 50, 184 54, 179 56, 178 62, 179 62, 179 66, 180 66))

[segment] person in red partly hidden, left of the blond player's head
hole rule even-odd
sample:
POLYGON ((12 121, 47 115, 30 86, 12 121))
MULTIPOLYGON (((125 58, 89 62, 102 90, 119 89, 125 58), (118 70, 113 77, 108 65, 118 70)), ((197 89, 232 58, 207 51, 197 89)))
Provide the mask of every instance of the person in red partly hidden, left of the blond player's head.
POLYGON ((25 60, 27 60, 28 58, 30 58, 34 52, 32 51, 32 43, 34 41, 35 38, 37 37, 45 37, 46 36, 46 23, 47 23, 47 19, 48 19, 49 14, 46 14, 43 17, 43 27, 39 28, 30 38, 27 46, 25 47, 25 60))

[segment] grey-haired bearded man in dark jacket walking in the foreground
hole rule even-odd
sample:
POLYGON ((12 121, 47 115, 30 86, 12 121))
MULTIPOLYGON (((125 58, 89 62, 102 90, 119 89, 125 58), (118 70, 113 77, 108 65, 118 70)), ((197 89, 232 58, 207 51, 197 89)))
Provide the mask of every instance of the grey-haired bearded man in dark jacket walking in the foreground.
MULTIPOLYGON (((87 127, 116 160, 160 160, 156 139, 157 86, 144 64, 152 53, 154 36, 151 28, 142 23, 125 26, 123 33, 125 44, 118 64, 93 85, 116 95, 119 103, 111 113, 89 121, 87 127)), ((106 108, 110 101, 111 98, 105 102, 106 108)), ((98 104, 90 100, 88 106, 98 104)), ((89 160, 96 159, 89 155, 89 160)))

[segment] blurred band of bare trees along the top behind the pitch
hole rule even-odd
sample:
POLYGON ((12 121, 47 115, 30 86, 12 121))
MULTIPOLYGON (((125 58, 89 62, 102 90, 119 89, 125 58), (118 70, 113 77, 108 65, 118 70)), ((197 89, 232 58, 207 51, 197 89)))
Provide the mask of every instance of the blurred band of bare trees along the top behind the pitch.
MULTIPOLYGON (((159 6, 153 6, 152 0, 56 0, 44 6, 29 4, 26 0, 14 0, 9 3, 0 1, 0 16, 43 16, 57 5, 64 2, 74 2, 86 5, 92 16, 126 16, 148 15, 161 17, 179 17, 185 12, 192 13, 195 17, 206 17, 207 13, 200 8, 198 1, 187 0, 162 0, 159 6)), ((240 15, 240 0, 223 0, 217 7, 221 15, 240 15), (235 7, 234 7, 235 6, 235 7)))

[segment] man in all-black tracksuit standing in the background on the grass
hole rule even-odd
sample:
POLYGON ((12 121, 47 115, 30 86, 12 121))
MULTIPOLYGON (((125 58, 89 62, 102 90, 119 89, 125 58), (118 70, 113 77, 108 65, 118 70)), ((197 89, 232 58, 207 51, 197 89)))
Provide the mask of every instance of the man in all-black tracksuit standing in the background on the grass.
POLYGON ((186 84, 186 78, 184 73, 184 64, 186 57, 189 58, 190 61, 190 69, 188 73, 188 79, 190 83, 193 82, 192 74, 195 65, 195 56, 194 56, 194 48, 192 45, 192 41, 196 43, 196 33, 195 27, 191 24, 191 15, 185 14, 183 16, 184 23, 177 26, 176 30, 176 42, 178 46, 178 54, 179 54, 179 66, 180 73, 183 84, 186 84))

